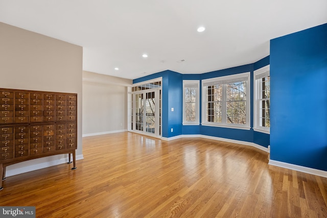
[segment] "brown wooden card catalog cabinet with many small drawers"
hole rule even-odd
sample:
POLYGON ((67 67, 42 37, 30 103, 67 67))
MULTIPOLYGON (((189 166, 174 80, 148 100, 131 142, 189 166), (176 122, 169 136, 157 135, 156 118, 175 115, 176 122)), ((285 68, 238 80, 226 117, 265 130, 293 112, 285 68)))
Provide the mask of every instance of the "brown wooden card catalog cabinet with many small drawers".
POLYGON ((68 154, 76 169, 77 94, 0 88, 0 190, 6 166, 68 154))

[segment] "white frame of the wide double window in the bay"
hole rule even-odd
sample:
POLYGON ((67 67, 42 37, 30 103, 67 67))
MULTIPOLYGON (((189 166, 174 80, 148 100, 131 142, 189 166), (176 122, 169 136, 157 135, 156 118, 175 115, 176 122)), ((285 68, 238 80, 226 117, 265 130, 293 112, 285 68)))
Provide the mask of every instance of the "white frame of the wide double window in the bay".
POLYGON ((223 127, 223 128, 232 128, 232 129, 244 129, 250 130, 250 120, 251 120, 251 92, 250 92, 250 72, 243 72, 241 74, 216 77, 211 79, 202 80, 202 126, 214 126, 214 127, 223 127), (226 118, 226 84, 232 83, 233 81, 238 81, 242 78, 246 78, 246 124, 228 124, 226 118), (217 83, 223 85, 223 101, 222 101, 222 122, 206 122, 206 86, 207 83, 217 83))

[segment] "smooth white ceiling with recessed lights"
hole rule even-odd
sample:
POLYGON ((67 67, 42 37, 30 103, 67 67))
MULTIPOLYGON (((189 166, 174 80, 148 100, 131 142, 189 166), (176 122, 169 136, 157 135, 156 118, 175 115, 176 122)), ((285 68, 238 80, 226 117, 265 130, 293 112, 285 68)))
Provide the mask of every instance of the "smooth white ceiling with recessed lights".
POLYGON ((0 0, 0 21, 83 46, 83 70, 135 79, 258 61, 270 39, 326 23, 327 1, 0 0))

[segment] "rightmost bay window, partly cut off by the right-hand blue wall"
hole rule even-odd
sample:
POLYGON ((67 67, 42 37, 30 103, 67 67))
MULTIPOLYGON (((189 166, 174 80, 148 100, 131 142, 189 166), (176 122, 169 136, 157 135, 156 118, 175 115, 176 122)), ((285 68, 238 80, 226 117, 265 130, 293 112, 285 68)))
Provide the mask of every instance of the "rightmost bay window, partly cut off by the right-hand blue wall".
POLYGON ((270 65, 254 71, 255 131, 270 133, 270 65))

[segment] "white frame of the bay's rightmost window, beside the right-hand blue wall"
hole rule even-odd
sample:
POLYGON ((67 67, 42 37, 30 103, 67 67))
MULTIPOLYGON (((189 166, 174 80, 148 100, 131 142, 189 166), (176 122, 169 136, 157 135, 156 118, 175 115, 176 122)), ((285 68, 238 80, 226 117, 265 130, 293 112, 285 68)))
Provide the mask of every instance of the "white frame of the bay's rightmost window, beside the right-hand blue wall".
POLYGON ((254 119, 253 119, 253 130, 256 132, 262 132, 262 133, 267 133, 270 134, 270 127, 261 127, 259 122, 259 96, 260 96, 260 83, 258 79, 266 77, 267 75, 270 76, 270 64, 264 67, 261 67, 260 69, 254 70, 253 71, 253 114, 254 114, 254 119), (258 79, 255 79, 258 78, 258 79))

